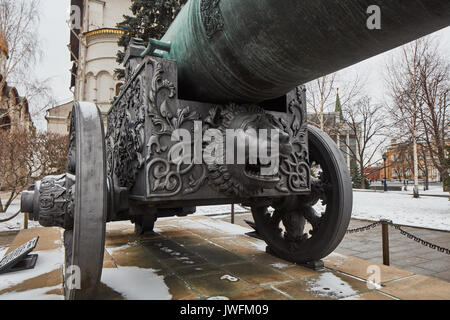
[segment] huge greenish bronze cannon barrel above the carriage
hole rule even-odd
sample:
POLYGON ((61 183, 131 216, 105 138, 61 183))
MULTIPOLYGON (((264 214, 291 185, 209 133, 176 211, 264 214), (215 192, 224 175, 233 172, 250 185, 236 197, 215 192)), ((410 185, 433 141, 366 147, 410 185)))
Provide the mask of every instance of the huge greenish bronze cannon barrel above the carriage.
POLYGON ((180 97, 259 102, 450 24, 449 0, 189 0, 163 41, 180 97), (369 6, 381 9, 371 30, 369 6))

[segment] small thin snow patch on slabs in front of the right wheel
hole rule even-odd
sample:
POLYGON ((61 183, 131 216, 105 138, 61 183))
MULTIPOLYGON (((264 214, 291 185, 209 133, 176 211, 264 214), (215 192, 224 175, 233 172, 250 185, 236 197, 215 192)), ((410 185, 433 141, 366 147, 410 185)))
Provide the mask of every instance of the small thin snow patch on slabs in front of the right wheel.
POLYGON ((324 272, 318 278, 308 281, 310 291, 318 296, 344 298, 358 294, 347 282, 331 272, 324 272))

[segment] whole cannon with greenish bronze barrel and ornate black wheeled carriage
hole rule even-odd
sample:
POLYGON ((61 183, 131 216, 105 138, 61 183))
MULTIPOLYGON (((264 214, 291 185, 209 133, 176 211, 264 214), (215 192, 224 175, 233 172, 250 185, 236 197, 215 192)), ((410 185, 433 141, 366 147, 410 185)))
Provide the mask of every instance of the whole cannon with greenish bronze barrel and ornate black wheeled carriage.
MULTIPOLYGON (((67 287, 66 297, 92 296, 106 222, 131 220, 143 233, 158 217, 202 205, 250 206, 270 252, 286 260, 307 263, 331 253, 350 220, 352 186, 341 151, 307 125, 298 84, 449 22, 446 0, 375 1, 386 15, 381 30, 369 30, 372 2, 190 0, 161 41, 145 47, 133 39, 106 135, 95 104, 76 103, 67 173, 22 194, 24 212, 65 229, 66 270, 81 269, 81 289, 67 287), (207 164, 171 156, 177 129, 200 134, 200 141, 209 129, 243 129, 247 147, 268 139, 248 128, 280 132, 277 172, 261 175, 263 159, 207 164)), ((198 155, 204 145, 189 148, 198 155)))

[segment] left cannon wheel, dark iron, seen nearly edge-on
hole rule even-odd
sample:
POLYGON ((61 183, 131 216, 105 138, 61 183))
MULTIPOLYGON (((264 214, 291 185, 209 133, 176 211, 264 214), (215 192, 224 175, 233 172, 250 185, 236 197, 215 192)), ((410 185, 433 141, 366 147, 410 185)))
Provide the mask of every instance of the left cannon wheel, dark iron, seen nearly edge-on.
POLYGON ((91 299, 102 275, 107 210, 104 141, 98 107, 93 103, 76 103, 72 109, 67 156, 68 173, 75 176, 73 230, 64 232, 67 300, 91 299))

